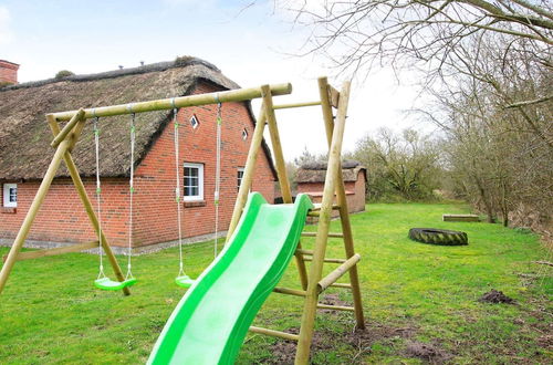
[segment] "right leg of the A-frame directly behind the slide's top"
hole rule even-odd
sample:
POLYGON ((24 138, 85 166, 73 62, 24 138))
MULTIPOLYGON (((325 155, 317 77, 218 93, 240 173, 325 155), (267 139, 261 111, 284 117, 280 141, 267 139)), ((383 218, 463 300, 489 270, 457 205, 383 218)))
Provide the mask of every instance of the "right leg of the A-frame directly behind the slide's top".
MULTIPOLYGON (((290 188, 290 181, 288 180, 286 164, 284 163, 284 154, 282 153, 282 145, 280 143, 279 126, 276 125, 276 116, 274 115, 273 100, 271 90, 269 85, 261 86, 263 91, 263 105, 265 107, 267 124, 269 126, 269 133, 271 135, 271 145, 273 147, 274 164, 276 168, 276 176, 279 178, 280 191, 282 194, 282 200, 286 204, 292 202, 292 189, 290 188)), ((302 243, 298 242, 298 249, 302 248, 302 243)), ((305 261, 303 260, 303 254, 294 253, 295 262, 298 264, 298 272, 300 275, 300 282, 302 289, 307 289, 307 269, 305 268, 305 261)))

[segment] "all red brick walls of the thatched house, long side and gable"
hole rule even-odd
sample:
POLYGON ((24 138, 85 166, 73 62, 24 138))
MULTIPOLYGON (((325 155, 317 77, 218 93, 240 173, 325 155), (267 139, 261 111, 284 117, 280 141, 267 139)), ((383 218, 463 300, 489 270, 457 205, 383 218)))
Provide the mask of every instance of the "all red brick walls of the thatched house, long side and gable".
MULTIPOLYGON (((217 91, 215 86, 200 84, 196 94, 217 91)), ((180 109, 180 179, 187 163, 204 164, 204 198, 200 207, 182 205, 182 229, 185 237, 196 237, 215 231, 215 167, 216 167, 216 108, 215 105, 180 109), (196 129, 189 124, 195 114, 200 122, 196 129)), ((226 230, 234 206, 237 168, 246 165, 248 148, 253 135, 253 123, 241 103, 222 105, 221 194, 219 229, 226 230), (247 140, 241 132, 248 129, 247 140)), ((163 131, 152 149, 135 170, 134 196, 134 246, 145 246, 175 240, 177 231, 177 207, 175 202, 175 154, 173 123, 163 131)), ((269 159, 261 153, 255 167, 252 190, 263 194, 268 201, 274 199, 274 177, 269 159)), ((88 197, 95 207, 95 181, 85 180, 88 197)), ((181 182, 182 185, 182 182, 181 182)), ((29 210, 39 182, 18 184, 17 212, 0 212, 0 238, 17 236, 24 215, 29 210)), ((103 229, 114 246, 127 244, 128 237, 128 180, 102 180, 103 229)), ((0 200, 1 201, 1 200, 0 200)), ((95 236, 79 196, 70 179, 56 179, 52 185, 41 211, 28 237, 30 240, 55 242, 81 242, 94 240, 95 236)))

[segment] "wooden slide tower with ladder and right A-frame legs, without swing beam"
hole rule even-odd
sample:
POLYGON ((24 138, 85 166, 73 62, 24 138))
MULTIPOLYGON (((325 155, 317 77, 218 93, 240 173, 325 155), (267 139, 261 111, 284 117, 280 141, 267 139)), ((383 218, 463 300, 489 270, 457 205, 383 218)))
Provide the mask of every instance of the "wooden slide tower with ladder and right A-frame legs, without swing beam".
POLYGON ((246 204, 248 190, 250 189, 253 177, 253 165, 255 164, 257 153, 259 150, 259 146, 261 145, 265 121, 271 135, 276 175, 280 182, 282 198, 285 204, 291 204, 292 194, 286 176, 274 111, 281 108, 321 105, 328 144, 328 163, 322 202, 316 205, 307 215, 309 217, 319 218, 317 231, 302 232, 303 237, 314 237, 315 243, 313 250, 305 250, 302 248, 301 242, 299 242, 294 254, 302 289, 276 286, 273 290, 275 293, 304 298, 300 333, 294 334, 257 326, 250 327, 250 331, 254 333, 296 341, 298 350, 295 364, 309 363, 317 309, 354 312, 357 328, 365 327, 361 300, 361 286, 357 274, 357 262, 359 261, 361 255, 355 253, 354 249, 349 211, 347 208, 345 185, 342 174, 342 140, 344 136, 344 126, 349 98, 349 83, 344 83, 342 92, 338 93, 334 87, 328 85, 326 77, 320 77, 319 91, 321 101, 282 105, 273 105, 270 91, 267 88, 263 91, 263 106, 253 133, 252 144, 250 145, 250 153, 248 155, 244 175, 242 178, 242 185, 237 198, 228 233, 230 237, 234 230, 240 218, 241 210, 246 204), (337 109, 336 116, 334 116, 333 107, 337 109), (334 199, 334 197, 336 197, 336 199, 334 199), (340 212, 342 232, 330 232, 333 210, 338 210, 340 212), (343 259, 325 257, 326 244, 330 238, 343 239, 345 249, 345 255, 343 259), (309 270, 305 262, 311 262, 309 270), (323 265, 325 263, 338 264, 338 267, 323 278, 323 265), (336 281, 345 273, 348 273, 349 283, 337 283, 336 281), (319 296, 331 286, 351 290, 353 306, 320 303, 319 296))

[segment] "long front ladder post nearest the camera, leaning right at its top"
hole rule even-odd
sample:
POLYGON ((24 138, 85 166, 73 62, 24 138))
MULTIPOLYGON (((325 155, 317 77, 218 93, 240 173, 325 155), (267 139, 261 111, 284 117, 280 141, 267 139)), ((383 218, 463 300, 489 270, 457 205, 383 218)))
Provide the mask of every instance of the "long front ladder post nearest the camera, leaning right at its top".
POLYGON ((319 281, 321 280, 326 252, 327 234, 330 229, 332 205, 334 191, 336 189, 336 177, 342 157, 342 140, 344 137, 345 119, 347 114, 347 102, 349 98, 349 82, 345 82, 340 95, 336 123, 332 134, 332 143, 328 153, 328 165, 321 204, 321 215, 319 219, 319 229, 313 250, 313 261, 309 275, 307 296, 303 309, 302 324, 300 330, 300 341, 295 354, 295 364, 307 364, 310 358, 311 342, 316 316, 316 306, 319 302, 319 281))

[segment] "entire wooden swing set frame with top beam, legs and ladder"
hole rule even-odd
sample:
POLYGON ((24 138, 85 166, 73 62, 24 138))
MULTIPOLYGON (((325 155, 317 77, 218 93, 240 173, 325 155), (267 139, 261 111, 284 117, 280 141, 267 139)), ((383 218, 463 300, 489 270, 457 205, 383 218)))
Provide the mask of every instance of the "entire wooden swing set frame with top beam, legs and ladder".
MULTIPOLYGON (((181 108, 188 106, 199 106, 208 104, 218 104, 227 102, 243 102, 253 98, 262 98, 262 106, 258 117, 255 128, 252 136, 252 142, 249 148, 248 158, 242 177, 238 197, 234 204, 234 210, 228 229, 228 237, 230 237, 236 229, 243 207, 248 199, 248 194, 251 188, 255 160, 261 150, 263 132, 265 125, 269 128, 271 144, 273 149, 274 164, 276 176, 282 192, 284 204, 292 202, 292 192, 286 176, 284 156, 280 142, 279 129, 276 125, 275 111, 282 108, 294 108, 305 106, 321 106, 323 113, 324 127, 326 131, 326 139, 328 144, 328 163, 326 169, 326 177, 323 190, 323 198, 315 209, 310 211, 309 216, 319 218, 319 227, 316 232, 303 232, 303 237, 315 237, 313 250, 305 250, 301 243, 298 243, 295 251, 296 267, 299 270, 301 289, 279 288, 274 289, 275 293, 300 296, 304 299, 303 315, 301 321, 300 334, 292 334, 275 330, 262 328, 251 326, 250 331, 270 336, 276 336, 285 340, 296 341, 298 350, 295 355, 295 364, 307 364, 310 358, 311 343, 313 340, 314 324, 316 317, 316 310, 336 310, 354 312, 357 328, 364 328, 364 314, 361 300, 361 286, 357 275, 357 262, 359 254, 355 253, 354 241, 352 234, 352 227, 349 222, 349 212, 347 208, 347 200, 345 194, 344 179, 342 176, 342 142, 344 136, 344 127, 346 122, 347 105, 349 100, 349 82, 343 84, 342 90, 338 92, 336 88, 327 83, 326 77, 319 79, 320 101, 295 104, 273 104, 273 96, 286 95, 292 92, 291 84, 275 84, 262 85, 260 87, 239 88, 226 92, 181 96, 175 98, 164 98, 149 102, 139 102, 132 104, 112 105, 97 108, 87 108, 79 111, 69 111, 61 113, 46 114, 46 121, 50 125, 54 136, 51 146, 55 148, 54 156, 50 166, 42 179, 42 182, 36 191, 36 195, 29 208, 29 211, 23 220, 19 233, 11 247, 10 252, 4 257, 4 263, 0 271, 0 293, 2 292, 8 278, 17 261, 38 259, 43 257, 63 254, 69 252, 79 252, 87 249, 97 248, 100 242, 104 249, 105 254, 113 268, 113 271, 118 281, 124 280, 123 272, 117 263, 111 246, 100 229, 98 219, 86 195, 84 184, 79 175, 77 167, 72 157, 72 150, 77 143, 81 133, 88 118, 115 116, 133 113, 146 113, 161 109, 181 108), (336 115, 334 115, 334 108, 336 115), (63 126, 60 122, 67 122, 63 126), (46 196, 48 190, 55 177, 55 174, 62 163, 65 163, 67 170, 76 188, 79 197, 83 202, 84 209, 94 227, 97 239, 96 241, 77 243, 63 248, 54 248, 46 250, 21 252, 23 243, 29 234, 31 226, 40 210, 42 202, 46 196), (330 232, 330 222, 332 211, 340 211, 340 220, 342 225, 342 232, 330 232), (100 237, 102 239, 100 239, 100 237), (345 258, 335 259, 326 258, 326 244, 330 238, 341 238, 344 242, 345 258), (311 262, 307 270, 305 262, 311 262), (340 265, 331 271, 324 278, 323 265, 324 263, 338 263, 340 265), (337 280, 345 273, 348 273, 349 283, 337 283, 337 280), (353 306, 343 305, 328 305, 319 303, 319 295, 321 295, 327 288, 334 286, 352 291, 353 306)), ((128 288, 124 288, 125 295, 129 295, 128 288)))

